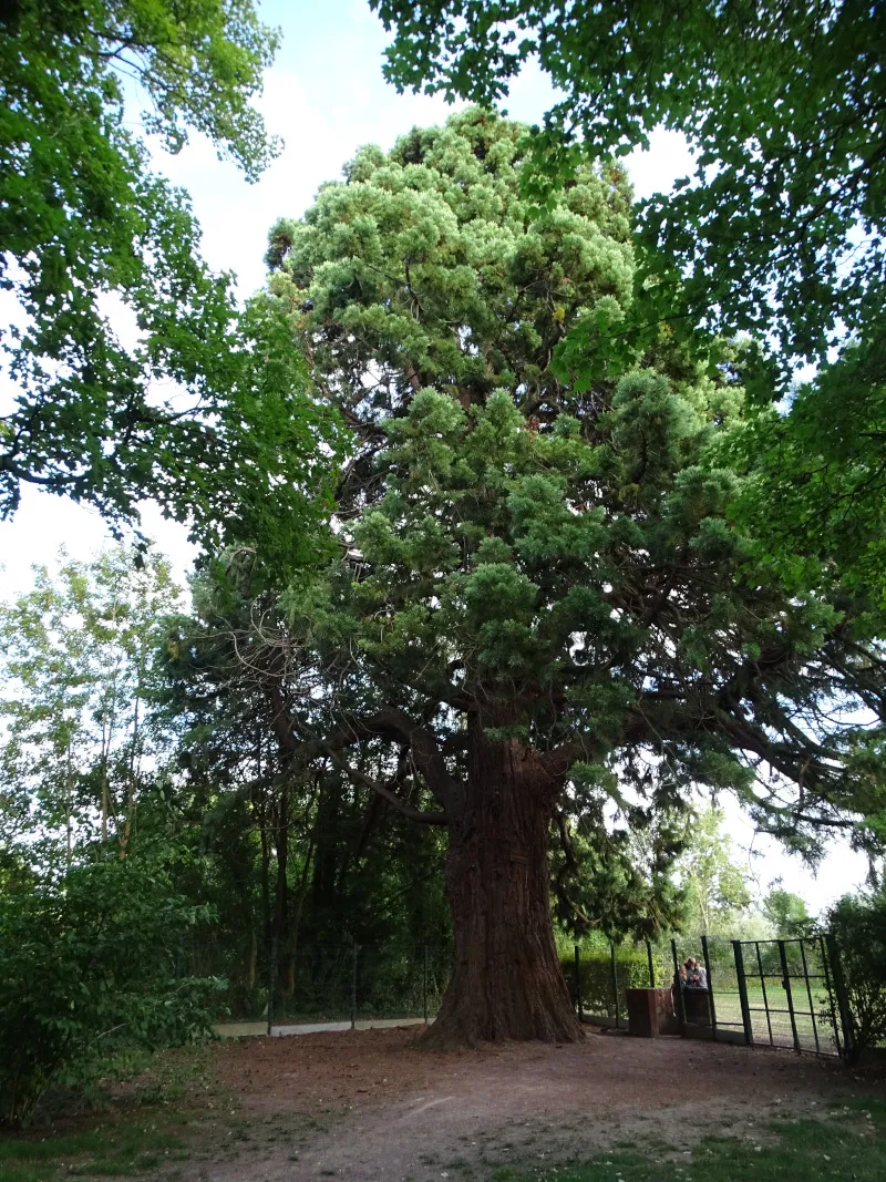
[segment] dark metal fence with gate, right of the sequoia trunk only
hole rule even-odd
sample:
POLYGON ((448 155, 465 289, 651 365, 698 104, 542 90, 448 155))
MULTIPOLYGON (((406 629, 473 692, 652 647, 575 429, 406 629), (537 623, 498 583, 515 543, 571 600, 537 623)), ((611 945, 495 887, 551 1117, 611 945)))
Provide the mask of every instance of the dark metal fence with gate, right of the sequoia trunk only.
POLYGON ((627 1027, 628 988, 670 987, 675 1017, 688 1034, 825 1056, 841 1056, 851 1037, 840 962, 833 942, 823 936, 699 936, 612 943, 591 952, 576 947, 574 963, 565 968, 579 1015, 617 1027, 627 1027), (702 996, 677 983, 679 966, 689 956, 706 972, 702 996))

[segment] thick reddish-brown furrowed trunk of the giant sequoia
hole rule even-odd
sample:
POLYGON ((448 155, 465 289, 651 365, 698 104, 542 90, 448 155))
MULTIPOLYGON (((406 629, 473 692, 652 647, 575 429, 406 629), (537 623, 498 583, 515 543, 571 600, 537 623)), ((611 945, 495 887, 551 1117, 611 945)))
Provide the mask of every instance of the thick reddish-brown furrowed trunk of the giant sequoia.
POLYGON ((561 780, 516 739, 469 721, 469 775, 452 817, 447 890, 455 965, 424 1044, 574 1041, 581 1027, 560 970, 548 900, 548 826, 561 780))

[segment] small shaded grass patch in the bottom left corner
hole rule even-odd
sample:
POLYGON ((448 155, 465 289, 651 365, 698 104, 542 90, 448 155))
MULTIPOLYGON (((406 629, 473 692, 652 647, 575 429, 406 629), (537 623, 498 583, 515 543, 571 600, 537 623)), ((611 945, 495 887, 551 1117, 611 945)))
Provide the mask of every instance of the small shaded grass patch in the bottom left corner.
POLYGON ((183 1156, 183 1143, 168 1129, 141 1123, 102 1126, 90 1132, 0 1139, 4 1182, 54 1182, 60 1177, 125 1177, 151 1173, 183 1156))

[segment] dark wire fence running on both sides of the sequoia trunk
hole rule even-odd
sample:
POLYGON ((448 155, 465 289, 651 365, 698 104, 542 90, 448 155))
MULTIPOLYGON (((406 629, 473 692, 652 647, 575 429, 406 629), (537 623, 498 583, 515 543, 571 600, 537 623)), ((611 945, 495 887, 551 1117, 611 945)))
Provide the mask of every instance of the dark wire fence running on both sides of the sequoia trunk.
MULTIPOLYGON (((280 949, 222 936, 182 946, 181 976, 215 976, 219 1021, 356 1024, 379 1019, 432 1021, 451 973, 447 944, 305 944, 280 949)), ((684 1033, 839 1056, 847 1028, 835 949, 826 937, 728 940, 675 936, 658 941, 598 940, 561 957, 580 1017, 628 1026, 630 989, 671 991, 684 1033), (705 970, 705 988, 688 992, 680 966, 705 970)))

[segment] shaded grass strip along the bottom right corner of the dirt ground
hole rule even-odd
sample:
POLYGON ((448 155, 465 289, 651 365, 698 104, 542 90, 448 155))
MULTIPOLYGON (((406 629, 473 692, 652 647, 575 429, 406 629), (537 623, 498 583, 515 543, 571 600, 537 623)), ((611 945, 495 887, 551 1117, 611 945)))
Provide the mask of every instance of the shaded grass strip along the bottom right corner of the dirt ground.
POLYGON ((886 1100, 847 1100, 821 1117, 760 1122, 748 1137, 705 1137, 677 1161, 659 1147, 600 1152, 574 1169, 496 1170, 490 1182, 884 1182, 886 1100))

